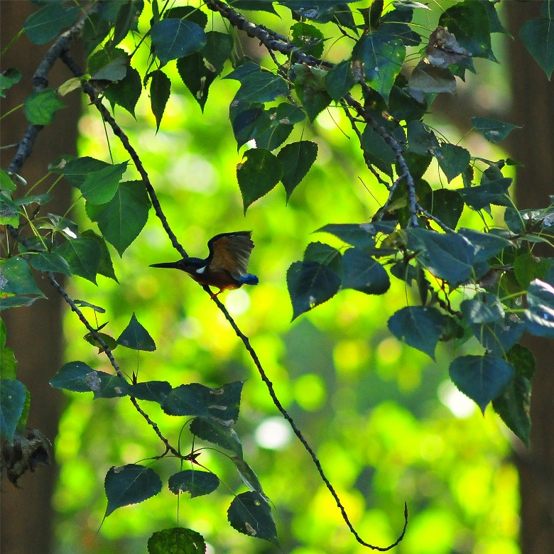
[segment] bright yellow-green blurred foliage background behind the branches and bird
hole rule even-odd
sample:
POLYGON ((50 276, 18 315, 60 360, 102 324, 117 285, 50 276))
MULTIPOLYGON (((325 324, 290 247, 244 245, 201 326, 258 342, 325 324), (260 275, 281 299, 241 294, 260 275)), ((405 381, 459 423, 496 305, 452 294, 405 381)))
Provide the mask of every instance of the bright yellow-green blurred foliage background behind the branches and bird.
MULTIPOLYGON (((257 21, 286 33, 290 21, 285 11, 279 13, 281 21, 271 16, 257 21)), ((431 17, 425 14, 420 24, 433 28, 431 17)), ((220 24, 210 20, 208 28, 219 29, 220 24)), ((126 48, 131 51, 134 45, 126 43, 126 48)), ((344 40, 330 40, 324 57, 341 59, 347 48, 344 40)), ((147 53, 143 46, 133 58, 141 75, 147 53)), ((249 54, 261 55, 262 65, 271 67, 263 50, 249 54)), ((226 66, 224 74, 230 69, 226 66)), ((190 255, 206 256, 207 240, 219 232, 253 230, 256 248, 250 271, 259 276, 260 284, 221 298, 250 337, 278 397, 313 445, 360 535, 376 545, 393 542, 403 525, 406 501, 410 523, 396 549, 399 554, 518 552, 518 479, 510 461, 513 438, 490 408, 483 417, 448 380, 452 355, 475 352, 476 343, 469 341, 457 352, 441 344, 433 362, 396 341, 386 321, 417 300, 395 278, 384 296, 343 291, 290 322, 288 266, 302 258, 310 241, 340 246, 333 237, 311 233, 327 223, 365 222, 385 198, 386 191, 363 164, 347 119, 339 109, 330 108, 313 126, 298 126, 290 140, 316 141, 317 162, 288 205, 278 185, 244 217, 236 168, 248 146, 237 153, 228 117, 239 83, 216 80, 202 115, 195 99, 178 84, 175 63, 167 70, 173 89, 157 134, 146 92, 136 120, 121 109, 116 109, 116 119, 129 133, 168 221, 190 255)), ((450 141, 459 139, 443 121, 435 124, 450 141)), ((114 162, 129 159, 117 139, 104 134, 94 109, 85 109, 80 131, 82 156, 110 161, 109 140, 114 162)), ((474 134, 462 144, 474 154, 501 157, 496 147, 474 134)), ((427 177, 434 188, 440 186, 434 166, 427 177)), ((125 178, 139 178, 132 165, 125 178)), ((94 228, 82 203, 77 203, 72 217, 82 229, 94 228)), ((472 214, 463 218, 466 226, 480 228, 472 214)), ((349 533, 307 453, 278 416, 251 359, 214 303, 184 273, 148 267, 179 257, 153 210, 123 258, 114 249, 112 256, 119 284, 101 276, 98 287, 76 279, 70 293, 106 308, 107 314, 98 319, 99 324, 109 321, 103 332, 118 337, 133 312, 148 329, 158 349, 137 353, 118 347, 114 354, 122 370, 128 376, 138 373, 139 380, 165 380, 173 386, 191 382, 220 386, 246 379, 235 429, 246 461, 273 502, 283 551, 366 552, 349 533)), ((92 311, 87 315, 94 320, 92 311)), ((82 340, 84 334, 77 319, 67 313, 67 361, 82 360, 94 369, 110 371, 106 357, 82 340)), ((185 418, 165 415, 153 403, 141 405, 174 444, 185 426, 181 445, 184 451, 190 447, 185 418)), ((153 430, 126 398, 93 402, 89 394, 67 394, 55 452, 61 467, 54 498, 60 554, 144 553, 153 532, 178 524, 202 533, 210 553, 278 552, 269 543, 240 535, 227 523, 232 494, 246 489, 232 463, 214 450, 203 451, 199 461, 224 482, 216 493, 178 499, 165 484, 158 496, 116 510, 99 529, 108 469, 163 452, 153 430)), ((172 458, 151 467, 165 483, 180 470, 172 458)))

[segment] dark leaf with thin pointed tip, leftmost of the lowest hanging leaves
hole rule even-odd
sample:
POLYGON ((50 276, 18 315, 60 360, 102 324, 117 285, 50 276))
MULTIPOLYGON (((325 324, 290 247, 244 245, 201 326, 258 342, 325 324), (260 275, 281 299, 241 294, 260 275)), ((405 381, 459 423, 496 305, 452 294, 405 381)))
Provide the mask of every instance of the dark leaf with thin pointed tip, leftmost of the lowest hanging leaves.
POLYGON ((104 490, 108 499, 104 518, 121 506, 138 504, 156 496, 161 491, 161 486, 160 477, 149 467, 136 464, 112 467, 104 479, 104 490))

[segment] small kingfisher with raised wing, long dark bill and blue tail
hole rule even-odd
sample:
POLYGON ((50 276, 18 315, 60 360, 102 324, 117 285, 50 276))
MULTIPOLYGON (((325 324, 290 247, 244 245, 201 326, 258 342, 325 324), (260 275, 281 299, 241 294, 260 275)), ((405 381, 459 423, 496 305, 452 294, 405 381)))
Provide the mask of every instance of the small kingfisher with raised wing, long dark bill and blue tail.
POLYGON ((208 256, 205 259, 183 258, 178 261, 152 264, 150 267, 168 267, 186 271, 197 283, 223 290, 257 285, 258 278, 248 272, 250 254, 254 249, 251 231, 220 233, 208 241, 208 256))

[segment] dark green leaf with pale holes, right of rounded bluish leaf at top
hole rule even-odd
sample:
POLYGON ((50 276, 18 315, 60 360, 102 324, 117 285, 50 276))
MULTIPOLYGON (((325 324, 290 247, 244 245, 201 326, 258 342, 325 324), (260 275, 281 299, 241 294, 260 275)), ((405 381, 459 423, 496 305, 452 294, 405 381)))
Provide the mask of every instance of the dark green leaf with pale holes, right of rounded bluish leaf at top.
POLYGON ((223 69, 223 64, 233 49, 233 40, 227 33, 206 33, 206 44, 200 52, 177 60, 179 75, 192 96, 200 104, 202 112, 210 85, 223 69))

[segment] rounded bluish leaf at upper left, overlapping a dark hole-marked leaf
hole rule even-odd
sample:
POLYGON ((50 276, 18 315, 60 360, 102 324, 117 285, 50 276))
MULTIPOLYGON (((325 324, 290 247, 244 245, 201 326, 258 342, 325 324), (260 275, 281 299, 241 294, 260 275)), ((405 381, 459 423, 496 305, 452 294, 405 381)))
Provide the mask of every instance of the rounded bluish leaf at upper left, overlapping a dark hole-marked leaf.
POLYGON ((156 55, 162 64, 200 50, 206 43, 202 27, 187 19, 163 19, 151 29, 156 55))

